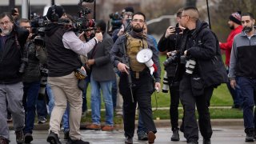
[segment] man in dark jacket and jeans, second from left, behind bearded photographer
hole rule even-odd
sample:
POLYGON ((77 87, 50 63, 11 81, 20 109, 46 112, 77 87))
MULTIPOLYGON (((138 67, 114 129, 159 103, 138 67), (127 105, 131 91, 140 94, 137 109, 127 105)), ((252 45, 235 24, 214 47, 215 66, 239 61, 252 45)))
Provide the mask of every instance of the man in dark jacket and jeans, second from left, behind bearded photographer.
POLYGON ((35 46, 34 40, 31 39, 31 27, 28 19, 22 18, 19 20, 19 26, 30 31, 30 36, 27 38, 25 50, 28 62, 26 70, 22 78, 24 85, 23 106, 25 109, 25 143, 30 143, 33 140, 32 130, 34 128, 35 106, 38 99, 38 91, 40 88, 40 70, 39 64, 46 62, 46 54, 42 46, 35 46))

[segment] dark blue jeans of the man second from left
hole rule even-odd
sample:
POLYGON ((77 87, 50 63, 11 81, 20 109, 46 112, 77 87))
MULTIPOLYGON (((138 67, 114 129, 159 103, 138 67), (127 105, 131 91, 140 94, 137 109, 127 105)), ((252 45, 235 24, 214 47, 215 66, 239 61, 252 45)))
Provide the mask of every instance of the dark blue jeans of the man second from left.
POLYGON ((40 88, 40 81, 26 83, 23 82, 23 106, 25 109, 25 127, 24 134, 32 134, 34 129, 35 106, 38 99, 38 91, 40 88))

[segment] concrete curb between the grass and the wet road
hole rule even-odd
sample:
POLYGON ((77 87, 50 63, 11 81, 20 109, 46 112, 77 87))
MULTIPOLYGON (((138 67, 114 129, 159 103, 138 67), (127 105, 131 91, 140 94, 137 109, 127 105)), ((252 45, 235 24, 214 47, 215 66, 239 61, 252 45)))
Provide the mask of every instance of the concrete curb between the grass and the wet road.
MULTIPOLYGON (((179 125, 181 125, 182 120, 179 120, 179 125)), ((135 122, 136 125, 138 121, 135 122)), ((156 127, 170 127, 170 119, 162 119, 162 120, 154 120, 156 127)), ((86 130, 86 126, 89 123, 82 122, 80 129, 86 130)), ((212 119, 211 120, 212 126, 243 126, 243 119, 212 119)), ((12 122, 8 123, 10 130, 13 130, 12 122)), ((137 127, 137 126, 136 126, 137 127)), ((115 130, 123 130, 123 124, 114 125, 115 130)), ((34 123, 34 130, 49 130, 49 122, 38 124, 34 123)))

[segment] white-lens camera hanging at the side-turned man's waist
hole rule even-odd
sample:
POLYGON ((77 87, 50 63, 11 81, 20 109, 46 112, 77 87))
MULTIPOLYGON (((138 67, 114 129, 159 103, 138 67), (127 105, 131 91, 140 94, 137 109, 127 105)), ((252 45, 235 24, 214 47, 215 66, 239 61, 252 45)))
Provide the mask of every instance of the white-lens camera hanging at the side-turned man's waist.
POLYGON ((196 66, 197 62, 194 58, 191 58, 190 56, 182 55, 181 56, 181 63, 186 64, 186 74, 193 74, 194 67, 196 66))

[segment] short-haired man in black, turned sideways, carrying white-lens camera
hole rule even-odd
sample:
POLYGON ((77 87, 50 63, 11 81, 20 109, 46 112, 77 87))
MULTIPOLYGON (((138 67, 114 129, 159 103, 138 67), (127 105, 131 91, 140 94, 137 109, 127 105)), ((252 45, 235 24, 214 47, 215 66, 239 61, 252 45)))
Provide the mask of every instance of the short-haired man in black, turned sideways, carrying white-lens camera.
POLYGON ((185 27, 181 62, 186 63, 180 82, 180 98, 184 108, 184 136, 188 143, 198 144, 198 123, 203 144, 210 144, 210 98, 214 88, 227 82, 227 74, 218 45, 218 38, 201 22, 196 7, 184 8, 180 25, 185 27), (186 58, 186 61, 184 59, 186 58), (198 123, 195 117, 198 110, 198 123))

